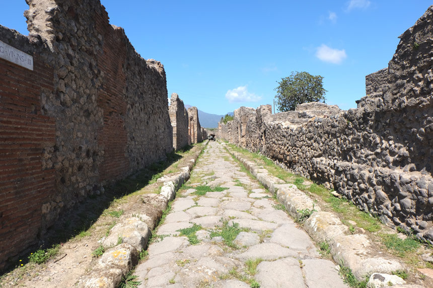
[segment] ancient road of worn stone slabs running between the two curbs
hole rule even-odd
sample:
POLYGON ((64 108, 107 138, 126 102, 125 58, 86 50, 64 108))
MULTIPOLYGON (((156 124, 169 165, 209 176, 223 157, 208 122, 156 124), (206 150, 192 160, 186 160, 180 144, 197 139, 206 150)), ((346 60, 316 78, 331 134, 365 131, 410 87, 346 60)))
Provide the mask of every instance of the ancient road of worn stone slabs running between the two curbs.
POLYGON ((221 144, 209 142, 187 185, 228 189, 203 196, 188 189, 174 200, 157 231, 163 236, 154 237, 162 240, 150 244, 149 259, 135 269, 139 287, 254 287, 254 281, 262 288, 347 287, 335 264, 321 259, 310 237, 274 208, 272 195, 242 172, 221 144), (202 227, 196 245, 177 231, 193 224, 202 227), (233 244, 217 236, 223 227, 236 231, 233 225, 242 231, 233 244), (246 272, 247 261, 256 259, 261 261, 256 272, 246 272))

